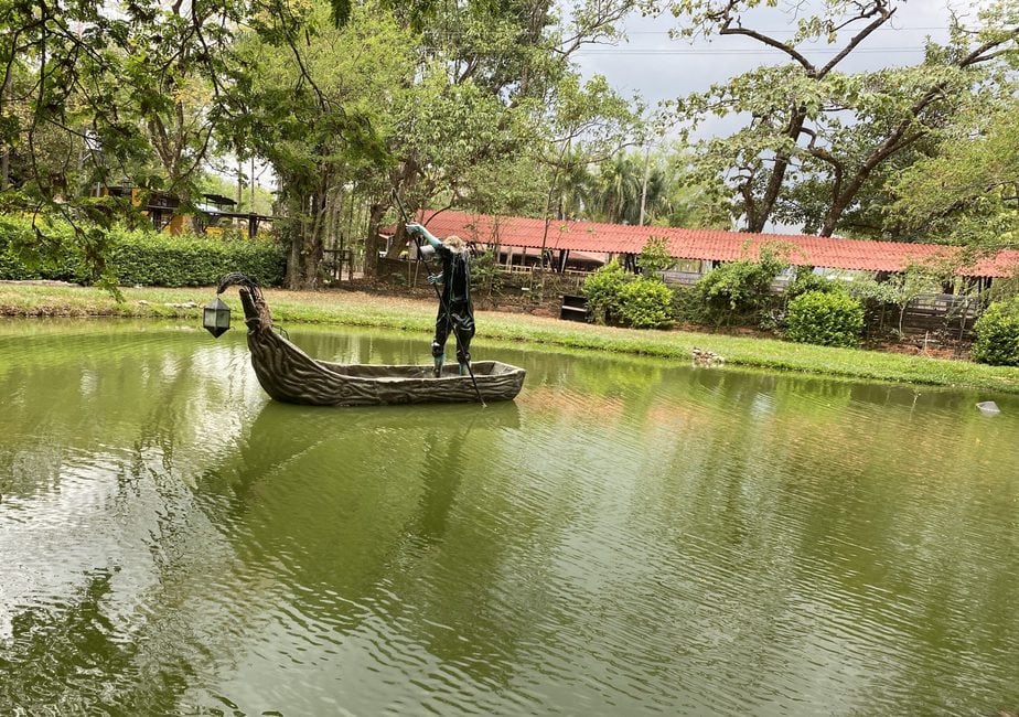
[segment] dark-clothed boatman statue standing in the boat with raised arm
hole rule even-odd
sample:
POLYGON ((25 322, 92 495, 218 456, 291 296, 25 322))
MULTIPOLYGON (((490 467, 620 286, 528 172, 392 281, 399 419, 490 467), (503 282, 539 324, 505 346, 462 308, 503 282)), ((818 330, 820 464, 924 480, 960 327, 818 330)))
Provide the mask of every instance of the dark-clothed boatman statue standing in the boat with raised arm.
POLYGON ((439 295, 439 314, 436 317, 436 336, 431 342, 431 355, 435 361, 436 377, 442 372, 446 360, 446 341, 450 331, 457 335, 457 362, 460 375, 470 373, 471 339, 474 336, 474 306, 471 302, 471 265, 470 252, 459 236, 439 239, 420 224, 407 224, 411 236, 419 236, 428 242, 442 261, 442 274, 428 277, 432 283, 441 283, 439 295))

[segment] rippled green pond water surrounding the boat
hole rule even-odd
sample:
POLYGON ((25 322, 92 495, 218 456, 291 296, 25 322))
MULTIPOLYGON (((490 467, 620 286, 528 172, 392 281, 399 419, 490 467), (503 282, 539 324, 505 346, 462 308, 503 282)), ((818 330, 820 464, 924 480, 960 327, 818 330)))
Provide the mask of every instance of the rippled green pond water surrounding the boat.
POLYGON ((516 402, 309 408, 242 331, 0 323, 0 715, 1019 710, 1019 398, 474 354, 516 402))

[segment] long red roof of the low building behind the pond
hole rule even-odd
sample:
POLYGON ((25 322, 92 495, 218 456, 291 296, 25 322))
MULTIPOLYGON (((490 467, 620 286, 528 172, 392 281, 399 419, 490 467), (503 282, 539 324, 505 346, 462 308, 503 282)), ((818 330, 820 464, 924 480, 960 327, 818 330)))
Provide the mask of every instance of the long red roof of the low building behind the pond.
MULTIPOLYGON (((789 247, 793 264, 832 269, 901 271, 909 264, 951 257, 958 247, 902 242, 870 242, 802 234, 749 234, 719 229, 682 229, 553 220, 546 234, 545 220, 491 216, 443 210, 418 214, 436 236, 457 234, 479 244, 604 254, 639 254, 650 237, 664 237, 677 259, 732 261, 753 258, 763 244, 789 247)), ((1019 268, 1019 252, 1001 252, 958 270, 959 276, 1006 277, 1019 268)))

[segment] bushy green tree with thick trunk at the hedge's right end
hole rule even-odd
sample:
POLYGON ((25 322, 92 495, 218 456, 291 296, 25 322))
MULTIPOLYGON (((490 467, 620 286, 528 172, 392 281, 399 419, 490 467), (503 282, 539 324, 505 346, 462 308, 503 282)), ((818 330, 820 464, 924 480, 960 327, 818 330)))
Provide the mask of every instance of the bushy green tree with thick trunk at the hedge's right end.
POLYGON ((288 285, 315 288, 333 202, 393 163, 386 137, 414 76, 415 38, 372 2, 339 28, 324 3, 288 13, 267 15, 237 47, 250 72, 232 92, 237 121, 227 131, 273 167, 288 285))

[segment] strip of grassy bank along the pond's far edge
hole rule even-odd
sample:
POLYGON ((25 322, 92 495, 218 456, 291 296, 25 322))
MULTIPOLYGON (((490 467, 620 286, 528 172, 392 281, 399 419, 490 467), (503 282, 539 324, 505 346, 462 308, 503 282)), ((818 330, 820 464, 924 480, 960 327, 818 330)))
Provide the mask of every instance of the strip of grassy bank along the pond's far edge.
MULTIPOLYGON (((196 289, 125 289, 122 303, 98 289, 0 283, 0 315, 187 318, 200 321, 202 304, 215 291, 196 289)), ((234 290, 225 295, 239 313, 234 290)), ((435 301, 329 291, 267 290, 279 323, 377 327, 429 333, 435 301)), ((985 366, 964 361, 847 349, 826 349, 771 339, 679 331, 634 331, 593 327, 515 313, 478 312, 479 338, 549 346, 642 354, 690 361, 696 347, 718 353, 728 365, 771 371, 972 387, 1019 393, 1019 368, 985 366)))

